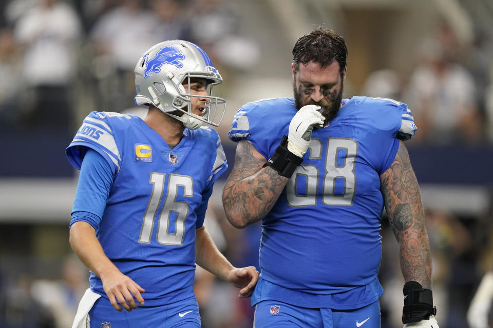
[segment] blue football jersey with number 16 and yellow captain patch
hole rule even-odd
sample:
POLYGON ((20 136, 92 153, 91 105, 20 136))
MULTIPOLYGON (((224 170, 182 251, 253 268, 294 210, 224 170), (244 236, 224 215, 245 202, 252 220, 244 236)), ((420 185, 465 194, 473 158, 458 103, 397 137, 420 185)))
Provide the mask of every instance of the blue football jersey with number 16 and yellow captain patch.
MULTIPOLYGON (((76 169, 87 149, 101 154, 114 177, 97 237, 119 270, 146 290, 145 306, 193 297, 195 230, 202 226, 214 181, 227 168, 216 131, 184 130, 170 149, 141 118, 91 112, 66 150, 76 169)), ((75 203, 74 203, 75 204, 75 203)), ((91 289, 106 297, 91 273, 91 289)))

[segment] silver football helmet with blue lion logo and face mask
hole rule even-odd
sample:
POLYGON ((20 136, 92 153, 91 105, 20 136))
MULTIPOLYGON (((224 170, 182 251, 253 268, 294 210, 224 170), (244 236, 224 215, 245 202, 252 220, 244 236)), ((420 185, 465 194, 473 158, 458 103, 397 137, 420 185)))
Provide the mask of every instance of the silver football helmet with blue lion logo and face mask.
POLYGON ((183 40, 158 43, 140 57, 134 72, 138 106, 154 105, 189 129, 197 129, 204 122, 219 126, 226 100, 213 96, 212 87, 222 83, 222 77, 200 47, 183 40), (191 94, 190 79, 194 77, 207 80, 208 96, 191 94), (188 90, 183 83, 188 84, 188 90), (192 97, 208 98, 203 116, 192 113, 192 97))

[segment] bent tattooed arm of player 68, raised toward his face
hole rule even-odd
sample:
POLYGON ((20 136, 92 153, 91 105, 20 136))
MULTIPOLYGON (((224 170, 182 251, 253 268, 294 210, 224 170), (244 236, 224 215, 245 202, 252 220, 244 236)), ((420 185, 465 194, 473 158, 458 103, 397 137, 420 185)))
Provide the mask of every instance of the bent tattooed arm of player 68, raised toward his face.
POLYGON ((266 216, 289 181, 272 168, 263 168, 266 162, 250 141, 238 142, 235 166, 222 192, 227 220, 236 228, 266 216))

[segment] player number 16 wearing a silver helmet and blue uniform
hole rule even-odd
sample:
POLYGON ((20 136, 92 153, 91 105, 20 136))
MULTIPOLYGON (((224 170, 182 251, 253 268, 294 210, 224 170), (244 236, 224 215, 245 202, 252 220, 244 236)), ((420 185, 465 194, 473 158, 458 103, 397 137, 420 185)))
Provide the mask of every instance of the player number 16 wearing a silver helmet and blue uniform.
POLYGON ((255 267, 233 267, 203 226, 227 168, 217 132, 202 127, 222 120, 225 100, 212 95, 222 78, 182 40, 151 47, 135 75, 147 115, 91 112, 66 150, 80 169, 70 244, 90 269, 73 326, 200 327, 195 263, 240 298, 258 279, 255 267))

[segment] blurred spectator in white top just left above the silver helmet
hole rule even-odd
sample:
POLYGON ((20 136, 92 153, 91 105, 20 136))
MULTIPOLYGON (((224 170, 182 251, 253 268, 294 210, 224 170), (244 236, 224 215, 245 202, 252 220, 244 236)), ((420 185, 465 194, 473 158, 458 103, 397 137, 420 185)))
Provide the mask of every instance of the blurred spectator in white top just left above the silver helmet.
POLYGON ((157 17, 139 0, 124 0, 97 18, 89 32, 94 51, 98 106, 120 112, 134 107, 134 66, 155 44, 157 17))

